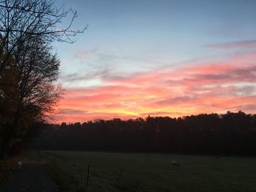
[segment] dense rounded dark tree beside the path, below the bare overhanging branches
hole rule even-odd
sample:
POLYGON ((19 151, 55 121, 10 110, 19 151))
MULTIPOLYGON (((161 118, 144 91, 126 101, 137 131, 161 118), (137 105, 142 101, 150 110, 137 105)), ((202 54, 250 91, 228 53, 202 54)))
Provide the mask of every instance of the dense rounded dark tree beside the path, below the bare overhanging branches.
MULTIPOLYGON (((14 69, 7 70, 17 74, 9 76, 16 82, 15 85, 7 86, 13 93, 4 94, 12 101, 13 110, 8 115, 7 122, 1 125, 2 150, 8 150, 16 142, 20 142, 30 124, 53 112, 54 104, 60 98, 59 87, 53 84, 59 76, 59 59, 56 55, 51 55, 51 47, 41 39, 24 44, 29 45, 25 46, 26 49, 19 48, 19 53, 15 53, 15 58, 10 63, 14 69)), ((7 82, 4 80, 3 83, 7 82)))

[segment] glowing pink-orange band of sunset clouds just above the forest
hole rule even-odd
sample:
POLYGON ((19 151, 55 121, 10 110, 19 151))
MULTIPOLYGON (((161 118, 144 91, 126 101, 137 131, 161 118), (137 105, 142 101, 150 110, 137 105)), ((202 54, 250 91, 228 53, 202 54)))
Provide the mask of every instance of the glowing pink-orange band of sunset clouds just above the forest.
POLYGON ((101 86, 66 88, 56 120, 179 117, 244 110, 256 113, 256 53, 223 61, 165 66, 126 76, 104 74, 101 86))

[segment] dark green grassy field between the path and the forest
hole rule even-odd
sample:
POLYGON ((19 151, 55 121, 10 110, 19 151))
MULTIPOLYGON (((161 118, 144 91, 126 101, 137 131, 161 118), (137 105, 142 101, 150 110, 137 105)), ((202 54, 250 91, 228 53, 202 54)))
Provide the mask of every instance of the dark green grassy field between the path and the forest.
POLYGON ((256 158, 69 151, 45 154, 67 191, 256 191, 256 158), (181 166, 173 166, 171 161, 181 166))

